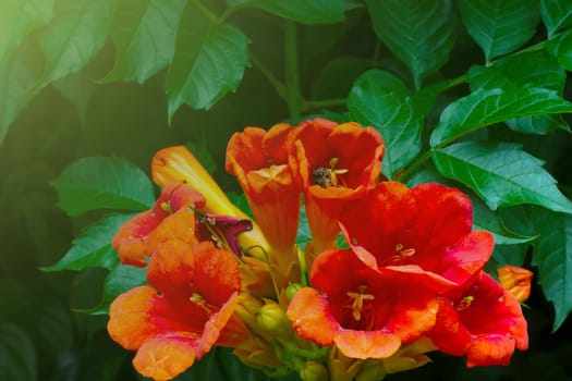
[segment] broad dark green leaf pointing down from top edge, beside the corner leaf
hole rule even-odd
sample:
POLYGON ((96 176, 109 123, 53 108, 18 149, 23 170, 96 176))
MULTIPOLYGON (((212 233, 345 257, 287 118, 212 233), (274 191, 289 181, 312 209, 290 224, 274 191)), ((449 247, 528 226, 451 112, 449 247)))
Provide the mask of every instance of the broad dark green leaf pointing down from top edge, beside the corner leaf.
POLYGON ((531 39, 540 20, 536 0, 459 0, 466 30, 487 62, 510 53, 531 39))

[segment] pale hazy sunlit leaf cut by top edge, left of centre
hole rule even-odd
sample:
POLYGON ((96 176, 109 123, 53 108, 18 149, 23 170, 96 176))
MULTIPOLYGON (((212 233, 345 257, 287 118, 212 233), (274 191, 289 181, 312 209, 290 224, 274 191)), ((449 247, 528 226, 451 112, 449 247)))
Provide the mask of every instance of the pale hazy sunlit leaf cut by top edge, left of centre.
POLYGON ((122 0, 111 24, 115 64, 101 82, 137 81, 143 84, 166 67, 174 54, 174 40, 185 0, 122 0))

